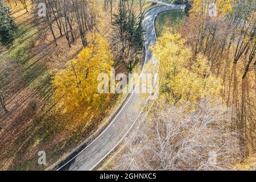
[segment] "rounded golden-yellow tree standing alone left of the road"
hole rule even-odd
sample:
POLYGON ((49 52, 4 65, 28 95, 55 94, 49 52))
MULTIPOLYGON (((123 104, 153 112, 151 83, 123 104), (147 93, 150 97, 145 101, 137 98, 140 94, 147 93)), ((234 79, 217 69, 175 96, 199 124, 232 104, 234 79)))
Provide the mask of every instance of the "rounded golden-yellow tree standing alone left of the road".
POLYGON ((99 34, 82 49, 77 59, 68 61, 65 69, 53 78, 56 101, 63 103, 66 111, 88 106, 100 107, 106 95, 97 91, 100 73, 110 74, 113 55, 109 43, 99 34))

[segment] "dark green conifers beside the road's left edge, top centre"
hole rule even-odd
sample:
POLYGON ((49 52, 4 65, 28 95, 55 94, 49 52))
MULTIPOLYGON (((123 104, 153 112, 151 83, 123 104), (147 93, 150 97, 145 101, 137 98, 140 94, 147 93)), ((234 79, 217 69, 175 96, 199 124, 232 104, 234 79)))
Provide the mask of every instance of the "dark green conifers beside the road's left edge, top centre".
POLYGON ((143 49, 143 12, 134 11, 134 0, 119 0, 118 12, 112 22, 114 31, 112 46, 119 53, 118 61, 123 61, 131 72, 138 63, 138 54, 143 49))

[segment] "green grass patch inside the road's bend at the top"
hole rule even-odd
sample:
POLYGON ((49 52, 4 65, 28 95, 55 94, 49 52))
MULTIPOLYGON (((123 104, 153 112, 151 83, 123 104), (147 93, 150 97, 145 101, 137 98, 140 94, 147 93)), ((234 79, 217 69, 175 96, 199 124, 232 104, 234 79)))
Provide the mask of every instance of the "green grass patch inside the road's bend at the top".
POLYGON ((183 23, 185 13, 181 10, 164 11, 155 19, 155 29, 158 36, 162 36, 167 30, 176 32, 183 23))

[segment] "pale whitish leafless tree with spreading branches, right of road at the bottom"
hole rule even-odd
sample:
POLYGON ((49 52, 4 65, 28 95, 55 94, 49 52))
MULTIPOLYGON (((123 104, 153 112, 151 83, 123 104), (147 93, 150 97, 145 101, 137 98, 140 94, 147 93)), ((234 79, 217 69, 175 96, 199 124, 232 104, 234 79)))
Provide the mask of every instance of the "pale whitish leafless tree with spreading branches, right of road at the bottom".
POLYGON ((238 135, 229 131, 230 109, 207 99, 191 106, 155 106, 140 129, 126 139, 117 169, 228 169, 239 154, 238 135))

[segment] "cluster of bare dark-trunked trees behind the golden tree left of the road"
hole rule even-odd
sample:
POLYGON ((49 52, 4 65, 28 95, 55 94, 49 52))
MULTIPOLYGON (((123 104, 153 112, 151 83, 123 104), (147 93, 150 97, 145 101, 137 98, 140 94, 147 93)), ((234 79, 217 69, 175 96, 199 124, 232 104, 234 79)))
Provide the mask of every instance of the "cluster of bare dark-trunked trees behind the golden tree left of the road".
POLYGON ((68 46, 75 41, 75 30, 79 30, 82 46, 88 45, 86 34, 93 29, 97 30, 100 21, 101 5, 97 1, 88 0, 44 0, 46 4, 46 23, 57 45, 56 31, 65 35, 68 46))

